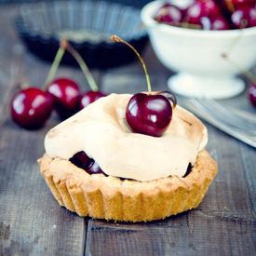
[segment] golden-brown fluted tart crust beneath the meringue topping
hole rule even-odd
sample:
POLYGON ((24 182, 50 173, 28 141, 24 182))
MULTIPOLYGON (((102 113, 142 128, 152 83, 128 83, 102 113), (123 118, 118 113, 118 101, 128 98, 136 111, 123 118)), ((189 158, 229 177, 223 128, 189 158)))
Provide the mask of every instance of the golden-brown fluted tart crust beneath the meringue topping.
POLYGON ((217 174, 217 163, 205 149, 185 178, 171 176, 152 182, 89 175, 70 161, 47 154, 38 163, 61 206, 80 216, 123 222, 149 222, 195 209, 217 174))

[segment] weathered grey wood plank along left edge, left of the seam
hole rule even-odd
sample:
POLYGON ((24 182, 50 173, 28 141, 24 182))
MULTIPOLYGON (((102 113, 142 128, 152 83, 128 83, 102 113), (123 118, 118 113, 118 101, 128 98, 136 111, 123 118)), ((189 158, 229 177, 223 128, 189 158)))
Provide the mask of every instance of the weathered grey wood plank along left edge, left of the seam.
POLYGON ((43 85, 49 69, 33 56, 15 52, 20 46, 12 23, 16 9, 0 10, 0 255, 83 255, 86 219, 58 205, 36 163, 44 154, 47 130, 60 120, 53 115, 45 128, 31 131, 10 119, 19 62, 22 75, 35 87, 43 85))

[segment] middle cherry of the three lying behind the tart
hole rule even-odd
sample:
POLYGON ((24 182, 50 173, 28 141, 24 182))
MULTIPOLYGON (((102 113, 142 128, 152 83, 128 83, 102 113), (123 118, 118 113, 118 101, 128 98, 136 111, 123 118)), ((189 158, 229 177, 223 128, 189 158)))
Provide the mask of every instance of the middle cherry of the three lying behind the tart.
POLYGON ((54 108, 62 119, 74 115, 79 110, 80 90, 73 80, 56 79, 49 84, 47 91, 52 96, 54 108))

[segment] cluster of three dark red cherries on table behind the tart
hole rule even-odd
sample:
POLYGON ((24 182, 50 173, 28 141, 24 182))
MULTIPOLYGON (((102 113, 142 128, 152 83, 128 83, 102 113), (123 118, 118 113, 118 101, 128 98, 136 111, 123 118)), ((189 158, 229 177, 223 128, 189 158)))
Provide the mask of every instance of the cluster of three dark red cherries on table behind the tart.
POLYGON ((11 115, 22 128, 41 128, 53 109, 61 119, 66 119, 103 96, 99 90, 89 90, 81 95, 73 80, 59 78, 50 83, 46 91, 26 88, 17 92, 11 101, 11 115))

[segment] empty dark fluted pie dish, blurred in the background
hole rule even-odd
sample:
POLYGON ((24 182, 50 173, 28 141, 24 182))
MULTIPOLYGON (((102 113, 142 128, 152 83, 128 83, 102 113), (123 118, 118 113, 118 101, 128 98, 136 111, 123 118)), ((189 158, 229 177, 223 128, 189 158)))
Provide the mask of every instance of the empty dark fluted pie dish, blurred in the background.
MULTIPOLYGON (((58 1, 23 5, 15 20, 20 39, 34 55, 52 62, 61 37, 67 38, 89 68, 107 69, 137 60, 118 34, 142 52, 148 35, 141 27, 140 9, 103 1, 58 1)), ((75 66, 66 52, 62 64, 75 66)))

